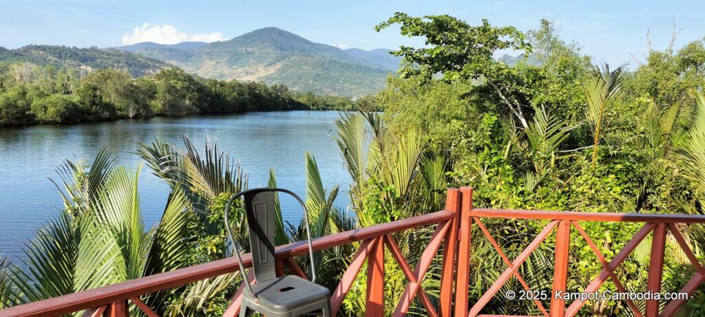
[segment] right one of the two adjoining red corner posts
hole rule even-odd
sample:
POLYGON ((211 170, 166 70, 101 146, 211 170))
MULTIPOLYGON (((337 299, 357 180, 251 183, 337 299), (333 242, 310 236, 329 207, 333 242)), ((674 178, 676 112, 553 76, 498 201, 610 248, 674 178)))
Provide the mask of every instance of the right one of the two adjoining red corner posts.
POLYGON ((470 287, 470 239, 472 237, 472 187, 460 188, 460 232, 458 273, 455 275, 455 317, 467 317, 468 288, 470 287))

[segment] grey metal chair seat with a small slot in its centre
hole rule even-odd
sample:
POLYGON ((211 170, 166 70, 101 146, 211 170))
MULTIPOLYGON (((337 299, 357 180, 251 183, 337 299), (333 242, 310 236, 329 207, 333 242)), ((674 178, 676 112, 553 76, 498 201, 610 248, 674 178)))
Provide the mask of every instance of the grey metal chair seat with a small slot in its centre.
MULTIPOLYGON (((331 292, 326 288, 296 275, 285 275, 252 285, 259 298, 258 306, 269 311, 284 312, 328 301, 331 292)), ((250 294, 245 292, 245 299, 250 294)))

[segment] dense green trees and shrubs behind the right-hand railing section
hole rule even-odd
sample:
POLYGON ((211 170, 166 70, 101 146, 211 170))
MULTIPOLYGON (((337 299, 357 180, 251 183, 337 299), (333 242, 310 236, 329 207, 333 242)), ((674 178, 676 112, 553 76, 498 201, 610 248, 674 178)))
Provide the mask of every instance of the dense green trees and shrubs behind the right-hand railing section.
MULTIPOLYGON (((527 35, 486 21, 467 25, 448 15, 397 13, 377 28, 392 24, 403 35, 422 37, 427 46, 395 52, 407 63, 402 77, 388 80, 377 95, 386 110, 383 118, 393 135, 419 131, 427 144, 422 157, 443 162, 448 185, 474 187, 475 206, 704 214, 702 40, 680 51, 651 51, 646 63, 630 72, 591 66, 579 46, 561 41, 545 20, 527 35), (519 49, 525 58, 509 66, 494 60, 498 49, 519 49)), ((419 170, 425 169, 423 162, 419 170)), ((505 219, 485 224, 510 259, 545 225, 505 219)), ((625 223, 582 225, 608 259, 639 230, 625 223)), ((702 226, 682 230, 705 259, 702 226)), ((551 285, 555 242, 544 243, 520 268, 534 290, 551 285)), ((476 302, 505 265, 482 238, 473 239, 472 249, 469 291, 470 302, 476 302)), ((580 292, 601 265, 575 237, 570 259, 568 287, 580 292)), ((628 289, 644 290, 648 263, 645 242, 616 273, 628 289)), ((669 239, 663 290, 680 290, 693 273, 669 239)), ((608 282, 603 289, 615 286, 608 282)), ((522 285, 513 280, 503 290, 519 292, 522 285)), ((700 288, 689 300, 683 316, 704 313, 702 293, 700 288)), ((626 311, 624 302, 611 301, 591 301, 584 309, 586 316, 626 311)), ((507 304, 501 296, 485 312, 541 314, 530 301, 507 304)))

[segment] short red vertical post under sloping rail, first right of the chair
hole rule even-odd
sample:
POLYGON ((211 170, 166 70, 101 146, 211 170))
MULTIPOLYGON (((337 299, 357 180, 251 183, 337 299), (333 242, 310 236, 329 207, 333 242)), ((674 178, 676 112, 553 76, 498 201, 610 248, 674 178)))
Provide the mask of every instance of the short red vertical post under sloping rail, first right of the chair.
POLYGON ((384 316, 384 239, 379 237, 367 257, 367 305, 364 316, 384 316))

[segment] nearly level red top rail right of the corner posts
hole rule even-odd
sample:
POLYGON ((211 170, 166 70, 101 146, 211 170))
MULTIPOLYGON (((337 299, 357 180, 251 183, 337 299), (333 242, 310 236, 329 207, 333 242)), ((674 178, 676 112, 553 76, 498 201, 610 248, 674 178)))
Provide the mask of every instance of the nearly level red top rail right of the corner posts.
POLYGON ((669 213, 589 213, 582 211, 477 208, 470 211, 470 216, 482 218, 616 221, 630 223, 705 223, 705 216, 669 213))

